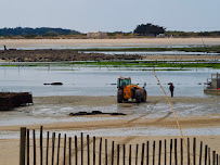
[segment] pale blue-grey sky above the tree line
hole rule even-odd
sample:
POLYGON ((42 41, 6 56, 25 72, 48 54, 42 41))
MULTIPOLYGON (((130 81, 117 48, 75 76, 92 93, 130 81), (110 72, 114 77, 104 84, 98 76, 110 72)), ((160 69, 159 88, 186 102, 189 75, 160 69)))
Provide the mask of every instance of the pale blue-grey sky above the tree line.
POLYGON ((220 0, 0 0, 0 28, 133 31, 152 23, 167 30, 220 30, 220 0))

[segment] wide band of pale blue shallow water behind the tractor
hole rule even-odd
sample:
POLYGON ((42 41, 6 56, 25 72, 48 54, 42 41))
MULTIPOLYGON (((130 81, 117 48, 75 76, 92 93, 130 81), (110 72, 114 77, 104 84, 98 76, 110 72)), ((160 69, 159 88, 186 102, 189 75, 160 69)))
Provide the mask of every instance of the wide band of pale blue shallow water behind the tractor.
MULTIPOLYGON (((138 68, 138 69, 148 69, 138 68)), ((204 82, 213 68, 189 68, 189 71, 157 71, 156 74, 169 94, 168 82, 174 84, 174 96, 207 97, 204 82)), ((42 96, 116 96, 117 78, 131 77, 132 84, 146 82, 148 96, 164 96, 152 71, 124 67, 0 67, 0 91, 30 91, 42 96), (44 82, 61 81, 63 86, 44 86, 44 82)))

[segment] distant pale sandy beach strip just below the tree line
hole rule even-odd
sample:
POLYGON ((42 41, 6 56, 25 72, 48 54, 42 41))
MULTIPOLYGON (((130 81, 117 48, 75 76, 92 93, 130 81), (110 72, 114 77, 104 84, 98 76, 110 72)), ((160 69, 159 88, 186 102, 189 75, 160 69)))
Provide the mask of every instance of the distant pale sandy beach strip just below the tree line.
MULTIPOLYGON (((205 45, 220 45, 220 38, 203 38, 205 45)), ((131 39, 2 39, 8 48, 70 48, 70 47, 163 47, 204 46, 200 38, 131 38, 131 39)))

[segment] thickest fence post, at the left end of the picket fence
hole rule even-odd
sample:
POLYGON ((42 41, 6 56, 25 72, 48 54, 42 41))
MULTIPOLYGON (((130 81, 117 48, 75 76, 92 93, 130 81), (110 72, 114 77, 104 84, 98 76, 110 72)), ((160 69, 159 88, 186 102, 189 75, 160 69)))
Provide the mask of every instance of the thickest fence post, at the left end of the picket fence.
POLYGON ((26 127, 20 131, 20 165, 25 165, 26 127))

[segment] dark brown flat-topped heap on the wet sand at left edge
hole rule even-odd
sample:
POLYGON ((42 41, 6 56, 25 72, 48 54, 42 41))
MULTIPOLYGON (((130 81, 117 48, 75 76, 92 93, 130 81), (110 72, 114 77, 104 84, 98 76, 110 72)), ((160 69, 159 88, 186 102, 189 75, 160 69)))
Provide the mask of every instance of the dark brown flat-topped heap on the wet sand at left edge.
POLYGON ((33 104, 30 92, 0 92, 0 111, 33 104))

